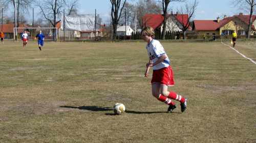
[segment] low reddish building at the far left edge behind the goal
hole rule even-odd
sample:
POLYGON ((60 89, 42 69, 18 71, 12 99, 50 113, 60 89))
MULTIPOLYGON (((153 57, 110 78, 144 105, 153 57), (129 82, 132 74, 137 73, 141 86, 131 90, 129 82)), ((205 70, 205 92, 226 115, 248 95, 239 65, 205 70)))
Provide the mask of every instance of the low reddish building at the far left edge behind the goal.
MULTIPOLYGON (((0 31, 3 31, 6 39, 12 39, 13 35, 14 35, 13 28, 15 28, 14 23, 6 23, 6 24, 3 24, 3 29, 2 29, 2 25, 0 26, 0 31)), ((17 33, 23 33, 23 31, 26 30, 29 34, 29 30, 26 29, 26 28, 28 28, 28 26, 26 26, 24 24, 19 24, 19 26, 17 26, 17 28, 24 28, 24 29, 17 29, 17 33)))

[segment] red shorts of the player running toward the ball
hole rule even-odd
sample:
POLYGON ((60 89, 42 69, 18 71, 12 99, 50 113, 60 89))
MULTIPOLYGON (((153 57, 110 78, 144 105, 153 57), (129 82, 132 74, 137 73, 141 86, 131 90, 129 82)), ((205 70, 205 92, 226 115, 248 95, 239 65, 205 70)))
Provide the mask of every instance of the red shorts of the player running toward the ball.
POLYGON ((173 70, 172 70, 172 67, 170 66, 153 70, 153 77, 151 80, 151 84, 159 83, 159 84, 165 84, 167 86, 174 86, 173 75, 174 75, 173 70))

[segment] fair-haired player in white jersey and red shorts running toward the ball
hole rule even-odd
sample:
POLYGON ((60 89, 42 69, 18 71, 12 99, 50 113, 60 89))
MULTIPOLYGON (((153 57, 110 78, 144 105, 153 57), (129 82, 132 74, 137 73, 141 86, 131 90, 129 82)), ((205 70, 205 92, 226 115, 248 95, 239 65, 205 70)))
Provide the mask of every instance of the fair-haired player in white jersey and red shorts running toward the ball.
POLYGON ((147 42, 146 50, 150 58, 150 61, 146 64, 145 77, 149 77, 148 71, 153 67, 151 80, 153 96, 169 105, 167 113, 173 112, 176 108, 175 103, 170 99, 179 101, 181 112, 184 112, 187 108, 187 99, 175 92, 168 91, 168 86, 174 86, 173 70, 163 46, 158 40, 154 39, 154 35, 155 32, 152 27, 145 27, 142 30, 142 39, 147 42))

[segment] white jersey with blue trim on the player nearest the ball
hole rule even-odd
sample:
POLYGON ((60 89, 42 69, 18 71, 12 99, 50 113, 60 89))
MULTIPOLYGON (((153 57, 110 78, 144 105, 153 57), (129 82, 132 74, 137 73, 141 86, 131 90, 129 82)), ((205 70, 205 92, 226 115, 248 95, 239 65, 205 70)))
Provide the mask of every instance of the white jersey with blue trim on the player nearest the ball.
MULTIPOLYGON (((166 54, 161 43, 155 39, 152 39, 150 44, 146 45, 146 50, 147 50, 148 57, 153 61, 153 63, 155 63, 159 59, 159 57, 166 54)), ((168 67, 169 65, 170 65, 170 61, 167 56, 167 58, 164 59, 161 63, 153 66, 153 70, 161 69, 163 67, 168 67)))

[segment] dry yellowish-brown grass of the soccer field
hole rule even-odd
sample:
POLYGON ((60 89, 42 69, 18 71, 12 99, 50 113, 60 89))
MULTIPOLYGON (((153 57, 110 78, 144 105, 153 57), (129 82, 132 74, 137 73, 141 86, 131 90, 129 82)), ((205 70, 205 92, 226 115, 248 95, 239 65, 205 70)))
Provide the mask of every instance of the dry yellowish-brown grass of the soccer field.
MULTIPOLYGON (((235 49, 256 61, 256 41, 235 49)), ((224 43, 230 45, 230 41, 224 43)), ((0 142, 256 142, 256 64, 213 42, 162 41, 185 112, 152 96, 146 43, 5 41, 0 142), (113 105, 126 107, 115 115, 113 105)), ((151 73, 152 74, 152 70, 151 73)))

